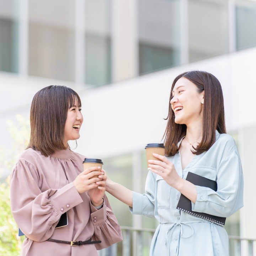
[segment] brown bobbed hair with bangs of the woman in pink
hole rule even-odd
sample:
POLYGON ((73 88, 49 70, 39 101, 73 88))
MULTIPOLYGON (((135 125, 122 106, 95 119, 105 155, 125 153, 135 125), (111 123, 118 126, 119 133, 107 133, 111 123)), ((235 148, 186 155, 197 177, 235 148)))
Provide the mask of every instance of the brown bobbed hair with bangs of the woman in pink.
POLYGON ((76 100, 81 107, 78 94, 66 86, 51 85, 38 91, 31 103, 31 135, 26 149, 39 150, 44 156, 66 149, 64 127, 68 110, 76 100))

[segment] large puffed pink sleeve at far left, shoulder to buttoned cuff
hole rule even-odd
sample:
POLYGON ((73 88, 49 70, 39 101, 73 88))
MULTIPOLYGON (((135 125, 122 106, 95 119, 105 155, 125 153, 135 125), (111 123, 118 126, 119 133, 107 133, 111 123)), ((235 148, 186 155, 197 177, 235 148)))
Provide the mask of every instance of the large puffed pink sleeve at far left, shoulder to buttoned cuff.
POLYGON ((62 206, 75 207, 83 201, 73 183, 42 192, 39 182, 37 168, 18 160, 10 178, 12 215, 29 239, 42 242, 52 236, 60 216, 68 210, 62 206))

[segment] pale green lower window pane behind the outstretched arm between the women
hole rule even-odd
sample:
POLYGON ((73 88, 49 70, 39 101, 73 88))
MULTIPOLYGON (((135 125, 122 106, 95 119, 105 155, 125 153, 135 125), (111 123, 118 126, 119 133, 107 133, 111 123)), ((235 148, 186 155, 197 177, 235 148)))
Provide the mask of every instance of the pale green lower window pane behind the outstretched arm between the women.
MULTIPOLYGON (((103 160, 103 169, 112 181, 132 190, 132 155, 116 156, 103 160)), ((129 207, 107 193, 111 207, 121 226, 132 226, 132 214, 129 207)))

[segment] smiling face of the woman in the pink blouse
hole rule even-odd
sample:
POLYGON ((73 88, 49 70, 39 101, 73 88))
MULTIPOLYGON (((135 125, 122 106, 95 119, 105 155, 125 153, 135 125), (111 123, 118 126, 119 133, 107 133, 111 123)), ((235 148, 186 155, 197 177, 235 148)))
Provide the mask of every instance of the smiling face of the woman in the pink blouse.
POLYGON ((78 101, 75 100, 74 106, 69 108, 67 119, 64 128, 64 142, 68 140, 76 140, 80 138, 80 128, 83 122, 81 107, 78 106, 78 101))

